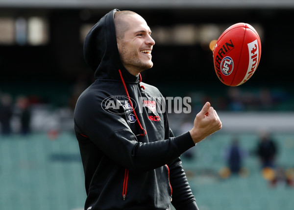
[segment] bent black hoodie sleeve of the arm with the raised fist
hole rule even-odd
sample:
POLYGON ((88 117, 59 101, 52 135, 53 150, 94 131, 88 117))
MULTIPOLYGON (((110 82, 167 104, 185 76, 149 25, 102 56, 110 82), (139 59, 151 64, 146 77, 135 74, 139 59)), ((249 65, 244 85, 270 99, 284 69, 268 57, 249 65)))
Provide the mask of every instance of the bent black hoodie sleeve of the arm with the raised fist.
POLYGON ((148 171, 179 157, 193 147, 187 134, 156 142, 138 142, 122 115, 101 108, 97 94, 83 94, 75 108, 75 131, 87 136, 113 161, 132 171, 148 171))

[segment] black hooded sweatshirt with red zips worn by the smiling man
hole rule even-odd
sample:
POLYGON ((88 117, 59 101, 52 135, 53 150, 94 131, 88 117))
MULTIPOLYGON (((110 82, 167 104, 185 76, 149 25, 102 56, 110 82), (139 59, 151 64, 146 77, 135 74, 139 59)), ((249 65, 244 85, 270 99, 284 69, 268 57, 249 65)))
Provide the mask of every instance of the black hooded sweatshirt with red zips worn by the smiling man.
POLYGON ((171 201, 177 210, 198 210, 179 158, 195 144, 189 132, 173 136, 167 113, 154 108, 162 94, 123 67, 117 11, 103 16, 84 42, 96 79, 74 111, 85 210, 170 210, 171 201))

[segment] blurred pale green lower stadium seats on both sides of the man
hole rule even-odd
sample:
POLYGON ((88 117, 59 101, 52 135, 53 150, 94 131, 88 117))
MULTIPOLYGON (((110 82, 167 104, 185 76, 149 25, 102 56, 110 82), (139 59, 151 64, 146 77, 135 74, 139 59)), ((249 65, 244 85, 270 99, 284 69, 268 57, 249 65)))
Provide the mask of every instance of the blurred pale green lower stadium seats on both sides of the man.
MULTIPOLYGON (((225 166, 224 149, 235 135, 216 133, 200 142, 192 158, 182 155, 183 166, 201 210, 293 210, 294 188, 270 187, 253 154, 256 134, 240 134, 248 152, 246 177, 220 177, 225 166)), ((294 136, 275 134, 279 146, 277 163, 294 167, 294 136)), ((0 136, 1 209, 82 210, 84 175, 78 144, 72 132, 13 134, 0 136)))

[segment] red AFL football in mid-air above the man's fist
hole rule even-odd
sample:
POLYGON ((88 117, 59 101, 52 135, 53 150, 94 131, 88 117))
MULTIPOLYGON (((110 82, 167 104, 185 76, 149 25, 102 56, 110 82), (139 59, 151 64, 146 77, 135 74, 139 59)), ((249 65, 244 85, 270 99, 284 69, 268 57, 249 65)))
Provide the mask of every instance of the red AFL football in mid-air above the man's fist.
POLYGON ((257 31, 245 23, 228 27, 213 50, 216 74, 222 83, 238 86, 250 79, 261 55, 261 42, 257 31))

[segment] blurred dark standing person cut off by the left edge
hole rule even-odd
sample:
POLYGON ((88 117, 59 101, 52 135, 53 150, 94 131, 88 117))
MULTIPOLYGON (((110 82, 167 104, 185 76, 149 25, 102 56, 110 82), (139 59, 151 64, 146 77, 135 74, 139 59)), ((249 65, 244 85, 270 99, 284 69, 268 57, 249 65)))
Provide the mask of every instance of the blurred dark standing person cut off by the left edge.
POLYGON ((4 94, 0 99, 0 124, 3 135, 9 135, 11 133, 10 121, 12 114, 12 97, 9 94, 4 94))

